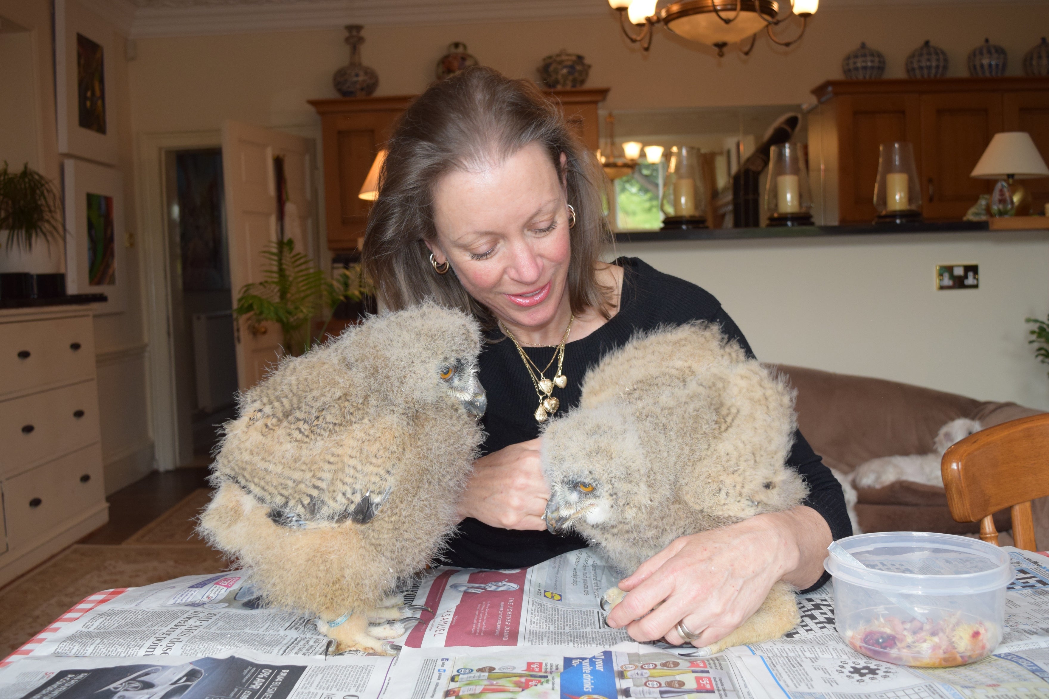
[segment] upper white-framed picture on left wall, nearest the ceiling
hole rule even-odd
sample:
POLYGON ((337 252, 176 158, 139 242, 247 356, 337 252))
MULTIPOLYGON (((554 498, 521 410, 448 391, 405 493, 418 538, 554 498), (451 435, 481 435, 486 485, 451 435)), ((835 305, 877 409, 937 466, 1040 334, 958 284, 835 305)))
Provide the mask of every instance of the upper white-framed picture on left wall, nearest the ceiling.
POLYGON ((116 164, 113 28, 78 0, 55 0, 59 152, 116 164))

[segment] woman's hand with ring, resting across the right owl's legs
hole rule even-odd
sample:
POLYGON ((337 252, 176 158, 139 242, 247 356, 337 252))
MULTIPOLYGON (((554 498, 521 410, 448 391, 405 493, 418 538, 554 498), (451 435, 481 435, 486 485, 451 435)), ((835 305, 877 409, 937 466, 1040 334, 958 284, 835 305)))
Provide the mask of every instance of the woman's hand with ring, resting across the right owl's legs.
POLYGON ((608 626, 639 641, 684 643, 673 628, 684 621, 699 634, 693 645, 710 645, 757 611, 777 580, 805 588, 819 579, 830 543, 827 523, 805 506, 682 536, 619 584, 630 594, 608 626))

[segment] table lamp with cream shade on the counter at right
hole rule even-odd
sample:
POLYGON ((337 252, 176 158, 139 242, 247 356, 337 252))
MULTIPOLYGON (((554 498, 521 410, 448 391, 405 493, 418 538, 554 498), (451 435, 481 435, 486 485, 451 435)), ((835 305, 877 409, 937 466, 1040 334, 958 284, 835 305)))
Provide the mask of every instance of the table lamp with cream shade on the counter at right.
POLYGON ((969 173, 979 179, 998 179, 990 197, 992 216, 1022 215, 1030 212, 1031 198, 1014 179, 1049 177, 1049 168, 1037 146, 1026 131, 996 133, 969 173))

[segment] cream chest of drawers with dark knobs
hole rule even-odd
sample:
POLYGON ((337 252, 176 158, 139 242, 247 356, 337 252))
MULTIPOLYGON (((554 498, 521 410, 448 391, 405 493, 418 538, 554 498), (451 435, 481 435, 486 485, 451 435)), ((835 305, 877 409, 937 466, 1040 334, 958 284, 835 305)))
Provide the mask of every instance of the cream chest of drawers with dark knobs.
POLYGON ((91 314, 0 310, 0 585, 108 520, 91 314))

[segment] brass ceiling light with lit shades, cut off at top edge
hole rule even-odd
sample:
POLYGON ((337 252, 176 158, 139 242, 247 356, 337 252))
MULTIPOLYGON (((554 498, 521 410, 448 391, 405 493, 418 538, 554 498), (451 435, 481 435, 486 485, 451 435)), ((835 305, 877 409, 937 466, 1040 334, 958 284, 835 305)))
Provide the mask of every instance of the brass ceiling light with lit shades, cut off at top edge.
POLYGON ((742 49, 749 56, 757 33, 765 29, 769 39, 780 46, 790 46, 805 36, 809 18, 816 14, 819 0, 790 0, 791 12, 780 16, 776 0, 608 0, 619 13, 623 34, 641 48, 648 50, 655 26, 667 29, 689 41, 708 44, 725 56, 725 47, 750 37, 750 46, 742 49), (790 41, 780 41, 772 27, 791 16, 801 18, 801 31, 790 41), (637 30, 633 27, 640 27, 637 30))

